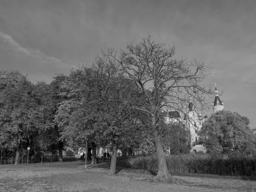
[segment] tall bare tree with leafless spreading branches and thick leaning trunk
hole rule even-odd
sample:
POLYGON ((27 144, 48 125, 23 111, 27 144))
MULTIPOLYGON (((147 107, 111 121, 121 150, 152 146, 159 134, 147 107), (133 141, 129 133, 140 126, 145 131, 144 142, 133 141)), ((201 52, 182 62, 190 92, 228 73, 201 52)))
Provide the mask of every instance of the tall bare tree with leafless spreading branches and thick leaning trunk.
POLYGON ((119 70, 125 72, 145 96, 150 110, 148 106, 134 108, 151 116, 158 160, 157 177, 168 177, 158 126, 164 119, 160 113, 163 110, 184 111, 189 96, 193 97, 199 110, 208 107, 207 95, 212 91, 201 85, 201 81, 208 75, 210 66, 197 61, 187 63, 183 58, 175 58, 174 46, 166 48, 166 44, 155 44, 150 36, 142 38, 136 46, 128 44, 125 50, 120 51, 119 56, 114 49, 108 49, 108 53, 103 54, 112 62, 118 63, 119 70))

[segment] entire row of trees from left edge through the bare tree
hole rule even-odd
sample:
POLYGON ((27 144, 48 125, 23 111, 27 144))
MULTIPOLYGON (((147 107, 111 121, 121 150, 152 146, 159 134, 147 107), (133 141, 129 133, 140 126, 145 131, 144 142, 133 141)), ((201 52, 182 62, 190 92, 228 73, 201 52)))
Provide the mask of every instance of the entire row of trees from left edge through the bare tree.
MULTIPOLYGON (((211 89, 201 86, 210 66, 175 58, 175 47, 150 37, 116 52, 108 49, 90 67, 57 75, 50 84, 32 84, 18 72, 0 72, 0 149, 55 151, 61 162, 65 145, 131 152, 138 146, 154 150, 157 177, 168 177, 164 143, 165 111, 183 111, 189 96, 198 110, 207 108, 211 89)), ((93 161, 92 161, 93 162, 93 161)))

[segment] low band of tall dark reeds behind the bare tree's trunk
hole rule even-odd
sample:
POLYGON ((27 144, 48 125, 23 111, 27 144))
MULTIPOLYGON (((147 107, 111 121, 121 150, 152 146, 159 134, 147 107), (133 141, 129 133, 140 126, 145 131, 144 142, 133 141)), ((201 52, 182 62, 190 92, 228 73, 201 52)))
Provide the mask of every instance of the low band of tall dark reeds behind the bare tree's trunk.
MULTIPOLYGON (((157 171, 157 157, 129 160, 134 169, 157 171)), ((169 172, 256 176, 256 157, 241 154, 178 154, 166 156, 169 172)))

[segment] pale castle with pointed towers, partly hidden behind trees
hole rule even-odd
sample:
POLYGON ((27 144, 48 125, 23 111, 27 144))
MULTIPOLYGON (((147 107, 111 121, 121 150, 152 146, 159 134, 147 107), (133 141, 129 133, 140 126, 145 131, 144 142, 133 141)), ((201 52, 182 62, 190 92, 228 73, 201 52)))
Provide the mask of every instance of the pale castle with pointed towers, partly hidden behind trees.
MULTIPOLYGON (((212 103, 213 113, 221 111, 224 109, 224 103, 218 96, 218 90, 215 85, 215 99, 212 103)), ((190 130, 190 143, 191 143, 191 151, 203 151, 206 152, 206 148, 204 147, 203 141, 204 138, 198 137, 198 131, 202 127, 202 123, 207 120, 208 116, 205 114, 204 116, 201 113, 198 114, 198 111, 195 108, 195 105, 192 104, 192 97, 189 97, 189 105, 185 109, 185 111, 168 111, 166 116, 166 122, 183 122, 186 127, 190 130)))

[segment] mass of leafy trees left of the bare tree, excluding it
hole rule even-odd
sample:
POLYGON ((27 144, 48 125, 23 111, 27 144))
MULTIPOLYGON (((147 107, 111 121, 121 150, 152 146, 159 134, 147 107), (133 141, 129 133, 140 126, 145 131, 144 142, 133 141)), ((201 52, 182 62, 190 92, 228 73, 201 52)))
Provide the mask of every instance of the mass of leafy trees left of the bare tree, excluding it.
POLYGON ((85 151, 87 144, 93 157, 99 146, 124 154, 143 144, 152 149, 145 129, 148 116, 133 108, 143 105, 141 94, 122 73, 101 62, 97 58, 92 67, 55 76, 50 84, 32 84, 17 70, 0 71, 1 153, 15 151, 18 163, 27 147, 35 157, 59 151, 62 162, 65 145, 85 151))

